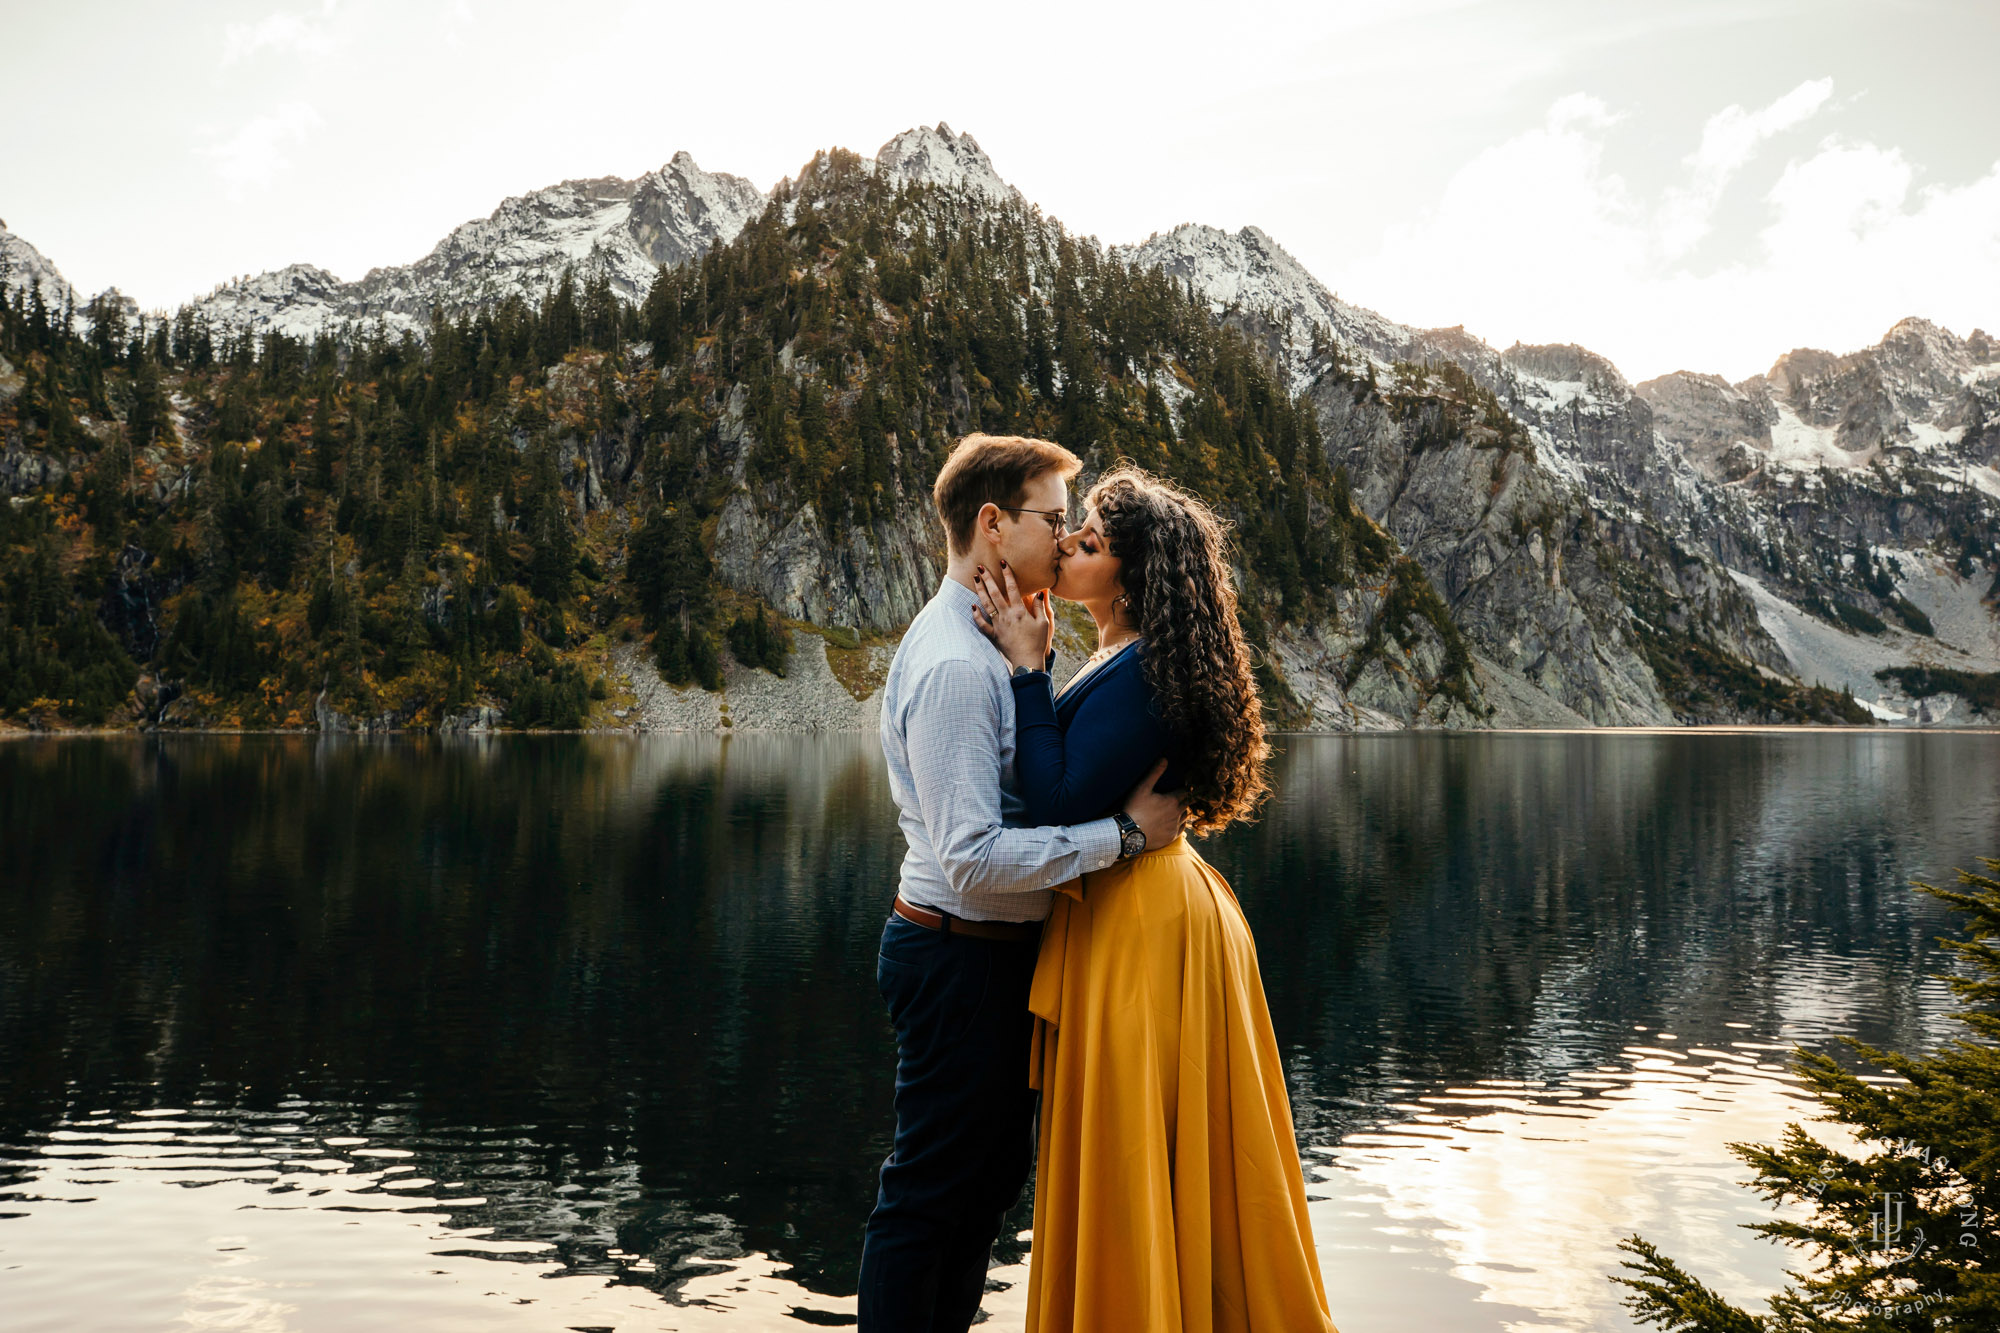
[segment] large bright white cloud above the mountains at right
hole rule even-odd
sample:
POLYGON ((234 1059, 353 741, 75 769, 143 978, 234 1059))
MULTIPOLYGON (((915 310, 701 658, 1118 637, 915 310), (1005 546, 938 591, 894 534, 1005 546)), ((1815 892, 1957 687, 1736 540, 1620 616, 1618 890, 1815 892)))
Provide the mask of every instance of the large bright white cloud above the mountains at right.
POLYGON ((1346 294, 1496 344, 1582 342, 1632 378, 1744 378, 1794 346, 1868 346, 1910 314, 1962 334, 2000 326, 2000 162, 1968 184, 1918 188, 1900 150, 1828 138, 1766 188, 1746 256, 1684 262, 1690 218, 1706 228, 1720 184, 1828 94, 1814 80, 1758 112, 1712 116, 1686 182, 1652 204, 1606 166, 1616 114, 1562 98, 1540 128, 1466 162, 1432 212, 1390 228, 1346 294))

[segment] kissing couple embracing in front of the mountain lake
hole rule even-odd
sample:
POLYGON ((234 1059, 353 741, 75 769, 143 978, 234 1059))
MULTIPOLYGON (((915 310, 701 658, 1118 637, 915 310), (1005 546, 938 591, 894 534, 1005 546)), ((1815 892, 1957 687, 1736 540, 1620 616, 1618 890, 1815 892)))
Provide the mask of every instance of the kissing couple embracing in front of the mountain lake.
POLYGON ((938 592, 882 689, 908 841, 876 979, 896 1141, 862 1333, 962 1333, 1036 1169, 1028 1333, 1334 1333, 1256 943, 1186 833, 1266 793, 1222 522, 1048 440, 970 434, 938 592), (1098 648, 1054 691, 1050 594, 1098 648))

